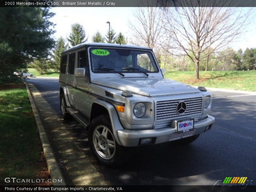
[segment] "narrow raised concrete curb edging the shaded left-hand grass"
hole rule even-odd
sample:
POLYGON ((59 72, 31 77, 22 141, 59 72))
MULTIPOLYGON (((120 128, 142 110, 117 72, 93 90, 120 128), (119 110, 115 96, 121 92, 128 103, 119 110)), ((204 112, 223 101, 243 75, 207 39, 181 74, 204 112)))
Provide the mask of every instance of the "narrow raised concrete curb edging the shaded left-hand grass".
POLYGON ((36 125, 37 125, 38 132, 39 132, 39 135, 40 135, 42 148, 44 150, 44 156, 45 156, 45 159, 46 159, 48 170, 49 170, 50 175, 51 175, 51 179, 52 180, 57 180, 57 181, 61 180, 61 182, 53 183, 53 185, 66 186, 66 183, 65 183, 65 180, 64 180, 64 178, 62 176, 62 173, 60 171, 59 165, 55 160, 55 157, 54 157, 54 154, 53 154, 53 151, 52 151, 52 147, 51 147, 50 142, 49 142, 49 140, 46 136, 44 126, 41 122, 39 113, 36 109, 36 105, 35 105, 34 100, 32 98, 31 92, 28 88, 27 83, 25 83, 25 85, 26 85, 27 92, 28 92, 28 98, 29 98, 29 101, 31 103, 31 107, 32 107, 32 110, 33 110, 33 113, 34 113, 34 116, 35 116, 36 125))

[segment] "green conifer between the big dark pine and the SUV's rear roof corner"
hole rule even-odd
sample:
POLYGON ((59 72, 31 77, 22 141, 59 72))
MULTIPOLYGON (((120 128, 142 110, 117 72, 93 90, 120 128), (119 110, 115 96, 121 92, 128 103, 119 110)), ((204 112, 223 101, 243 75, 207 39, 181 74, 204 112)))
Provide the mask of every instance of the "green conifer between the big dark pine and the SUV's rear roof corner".
POLYGON ((67 45, 65 44, 65 39, 60 37, 56 42, 56 46, 52 54, 53 61, 51 68, 56 72, 60 70, 61 53, 66 49, 67 45))

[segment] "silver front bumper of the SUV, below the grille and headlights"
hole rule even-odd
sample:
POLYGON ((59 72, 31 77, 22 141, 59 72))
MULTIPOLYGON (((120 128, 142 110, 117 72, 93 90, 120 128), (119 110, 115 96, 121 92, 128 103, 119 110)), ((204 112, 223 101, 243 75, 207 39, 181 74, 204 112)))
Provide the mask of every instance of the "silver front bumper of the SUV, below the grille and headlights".
POLYGON ((140 138, 156 138, 157 143, 164 143, 174 139, 181 139, 184 137, 201 134, 208 131, 211 127, 215 118, 209 116, 206 119, 197 121, 194 123, 195 130, 189 133, 178 134, 175 128, 162 128, 162 129, 151 129, 151 130, 118 130, 118 138, 121 144, 125 147, 135 147, 139 145, 140 138))

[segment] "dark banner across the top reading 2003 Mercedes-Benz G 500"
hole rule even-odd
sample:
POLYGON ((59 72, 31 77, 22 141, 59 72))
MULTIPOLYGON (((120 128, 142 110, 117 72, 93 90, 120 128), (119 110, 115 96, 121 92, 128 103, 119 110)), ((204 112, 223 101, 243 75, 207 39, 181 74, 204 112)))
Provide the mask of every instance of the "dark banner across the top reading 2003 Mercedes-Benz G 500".
POLYGON ((1 7, 256 7, 255 0, 0 0, 1 7))

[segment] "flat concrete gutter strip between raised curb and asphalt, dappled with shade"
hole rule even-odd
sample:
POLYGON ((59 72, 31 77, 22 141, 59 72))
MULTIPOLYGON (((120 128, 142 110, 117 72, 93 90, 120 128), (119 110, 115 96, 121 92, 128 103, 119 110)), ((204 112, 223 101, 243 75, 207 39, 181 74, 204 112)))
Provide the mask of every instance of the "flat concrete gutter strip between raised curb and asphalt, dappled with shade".
MULTIPOLYGON (((54 156, 53 160, 55 163, 57 161, 62 171, 62 177, 66 179, 66 186, 108 185, 102 174, 70 134, 66 125, 63 124, 56 112, 43 98, 41 92, 37 90, 34 84, 27 82, 26 85, 33 98, 40 122, 44 126, 45 136, 48 136, 48 142, 52 145, 49 147, 56 154, 56 160, 54 156)), ((50 170, 49 167, 48 169, 50 170)), ((60 179, 56 175, 55 178, 60 179)))

